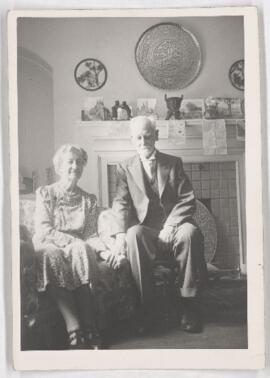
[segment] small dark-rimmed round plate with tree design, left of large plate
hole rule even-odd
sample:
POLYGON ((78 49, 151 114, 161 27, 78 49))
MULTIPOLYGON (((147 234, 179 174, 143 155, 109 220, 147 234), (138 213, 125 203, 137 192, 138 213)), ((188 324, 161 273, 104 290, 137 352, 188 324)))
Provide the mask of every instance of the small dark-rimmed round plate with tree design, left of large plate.
POLYGON ((107 80, 107 70, 97 59, 83 59, 74 70, 77 84, 86 91, 96 91, 103 87, 107 80))

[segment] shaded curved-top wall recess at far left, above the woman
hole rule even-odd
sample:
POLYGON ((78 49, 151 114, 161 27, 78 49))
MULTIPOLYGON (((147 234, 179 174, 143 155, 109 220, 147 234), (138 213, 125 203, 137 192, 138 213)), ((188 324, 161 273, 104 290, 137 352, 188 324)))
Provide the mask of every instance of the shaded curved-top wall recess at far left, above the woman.
POLYGON ((46 183, 46 168, 54 152, 52 69, 38 55, 18 50, 19 169, 23 177, 38 171, 46 183))

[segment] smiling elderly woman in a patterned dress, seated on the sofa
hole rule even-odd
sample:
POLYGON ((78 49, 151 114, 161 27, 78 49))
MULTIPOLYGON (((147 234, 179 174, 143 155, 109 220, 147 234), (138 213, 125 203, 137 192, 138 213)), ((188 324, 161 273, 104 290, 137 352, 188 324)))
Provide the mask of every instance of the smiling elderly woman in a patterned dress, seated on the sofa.
POLYGON ((96 197, 77 186, 87 154, 66 144, 53 163, 59 181, 36 192, 33 243, 38 290, 48 290, 58 306, 71 349, 100 349, 93 288, 98 274, 96 252, 106 252, 106 247, 96 236, 96 197))

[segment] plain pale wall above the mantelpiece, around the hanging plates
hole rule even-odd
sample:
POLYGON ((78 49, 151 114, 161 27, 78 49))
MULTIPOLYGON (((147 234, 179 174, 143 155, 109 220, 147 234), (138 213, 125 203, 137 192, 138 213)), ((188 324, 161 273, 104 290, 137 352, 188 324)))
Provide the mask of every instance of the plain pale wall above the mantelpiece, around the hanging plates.
POLYGON ((243 97, 228 79, 233 62, 244 57, 242 17, 130 18, 130 19, 24 19, 18 25, 18 44, 50 63, 54 71, 55 146, 73 140, 75 120, 88 96, 103 96, 109 108, 116 99, 133 107, 138 97, 157 98, 165 117, 164 94, 186 98, 243 97), (173 21, 189 29, 202 49, 198 78, 180 91, 150 86, 140 75, 134 58, 135 45, 151 25, 173 21), (101 60, 108 70, 103 88, 88 92, 74 80, 74 68, 84 58, 101 60))

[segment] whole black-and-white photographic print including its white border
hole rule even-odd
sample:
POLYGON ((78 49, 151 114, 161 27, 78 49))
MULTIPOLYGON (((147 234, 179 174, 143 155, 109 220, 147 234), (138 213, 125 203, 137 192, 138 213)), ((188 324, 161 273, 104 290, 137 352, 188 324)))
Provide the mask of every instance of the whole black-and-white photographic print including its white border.
POLYGON ((256 12, 216 10, 10 13, 18 369, 263 365, 256 12))

